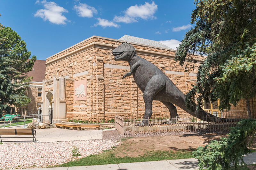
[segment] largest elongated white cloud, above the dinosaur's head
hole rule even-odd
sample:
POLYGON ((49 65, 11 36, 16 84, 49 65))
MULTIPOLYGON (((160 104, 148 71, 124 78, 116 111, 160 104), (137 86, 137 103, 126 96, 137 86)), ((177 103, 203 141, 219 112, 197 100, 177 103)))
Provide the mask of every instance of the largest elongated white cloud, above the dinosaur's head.
POLYGON ((138 22, 136 18, 141 19, 156 19, 154 14, 156 13, 157 5, 154 1, 151 1, 151 4, 145 2, 145 4, 130 6, 124 12, 124 16, 116 16, 114 18, 115 22, 124 22, 124 23, 132 23, 138 22))

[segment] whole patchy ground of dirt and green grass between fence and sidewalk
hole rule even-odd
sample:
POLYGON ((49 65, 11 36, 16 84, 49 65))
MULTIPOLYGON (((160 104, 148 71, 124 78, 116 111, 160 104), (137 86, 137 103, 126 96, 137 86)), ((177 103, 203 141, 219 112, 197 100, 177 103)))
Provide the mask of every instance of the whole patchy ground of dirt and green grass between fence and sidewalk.
MULTIPOLYGON (((155 136, 121 138, 117 147, 106 150, 100 154, 90 155, 85 158, 70 161, 60 166, 90 166, 118 163, 146 162, 170 159, 194 158, 193 151, 199 143, 205 145, 210 139, 219 138, 216 134, 155 136), (189 142, 188 142, 189 139, 189 142)), ((255 150, 252 150, 255 152, 255 150)), ((240 170, 247 170, 239 167, 240 170)))

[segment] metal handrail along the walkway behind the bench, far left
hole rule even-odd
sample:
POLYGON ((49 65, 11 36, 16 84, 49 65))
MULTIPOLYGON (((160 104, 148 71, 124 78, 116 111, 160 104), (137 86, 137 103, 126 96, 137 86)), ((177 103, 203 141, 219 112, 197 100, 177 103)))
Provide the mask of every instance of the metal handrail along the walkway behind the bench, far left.
MULTIPOLYGON (((33 114, 33 115, 22 115, 22 116, 15 116, 12 118, 12 121, 6 121, 6 119, 10 119, 10 117, 5 117, 4 121, 0 122, 0 128, 7 128, 10 126, 18 126, 18 125, 25 125, 27 123, 31 122, 35 119, 35 118, 39 118, 39 120, 41 119, 42 115, 38 115, 38 114, 33 114), (29 121, 29 122, 26 122, 29 121)), ((41 121, 41 120, 40 120, 41 121)))

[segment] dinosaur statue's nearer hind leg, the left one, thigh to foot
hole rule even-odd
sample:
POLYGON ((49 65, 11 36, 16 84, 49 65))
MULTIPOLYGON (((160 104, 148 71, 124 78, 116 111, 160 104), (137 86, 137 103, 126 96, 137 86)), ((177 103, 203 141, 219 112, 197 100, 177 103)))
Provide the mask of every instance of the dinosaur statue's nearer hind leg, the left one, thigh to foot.
POLYGON ((149 119, 152 116, 152 102, 154 96, 161 91, 165 86, 165 80, 162 76, 155 75, 147 83, 147 86, 143 93, 143 99, 145 102, 145 114, 141 125, 148 125, 149 119))

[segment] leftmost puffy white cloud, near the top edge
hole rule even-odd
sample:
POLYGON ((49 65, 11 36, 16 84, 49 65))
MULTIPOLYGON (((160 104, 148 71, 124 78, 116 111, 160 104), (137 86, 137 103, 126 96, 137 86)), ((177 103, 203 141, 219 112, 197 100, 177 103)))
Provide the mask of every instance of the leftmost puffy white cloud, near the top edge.
POLYGON ((62 13, 68 12, 68 10, 59 6, 55 2, 47 2, 44 0, 41 4, 44 5, 44 9, 37 10, 34 17, 40 17, 44 21, 48 20, 53 24, 66 24, 68 19, 62 13))

